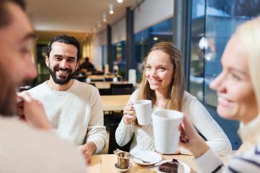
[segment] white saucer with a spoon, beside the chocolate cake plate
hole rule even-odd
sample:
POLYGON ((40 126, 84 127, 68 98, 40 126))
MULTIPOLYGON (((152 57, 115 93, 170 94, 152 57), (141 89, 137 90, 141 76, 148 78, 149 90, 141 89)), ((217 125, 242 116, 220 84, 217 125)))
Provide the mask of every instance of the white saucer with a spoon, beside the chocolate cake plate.
POLYGON ((132 160, 139 165, 154 165, 157 162, 161 161, 161 155, 153 151, 133 151, 130 153, 137 158, 150 162, 143 163, 142 161, 133 158, 132 160))

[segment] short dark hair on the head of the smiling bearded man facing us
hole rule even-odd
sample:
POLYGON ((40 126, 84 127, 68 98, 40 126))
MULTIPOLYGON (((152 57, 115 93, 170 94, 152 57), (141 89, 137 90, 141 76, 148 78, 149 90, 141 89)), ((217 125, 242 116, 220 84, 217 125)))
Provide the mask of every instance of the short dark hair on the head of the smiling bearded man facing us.
POLYGON ((56 36, 52 39, 50 45, 47 47, 47 56, 50 58, 50 52, 52 50, 52 43, 58 42, 58 43, 65 43, 65 44, 72 44, 75 47, 77 47, 78 52, 77 52, 77 62, 80 59, 80 44, 77 39, 74 37, 66 36, 66 35, 61 35, 61 36, 56 36))

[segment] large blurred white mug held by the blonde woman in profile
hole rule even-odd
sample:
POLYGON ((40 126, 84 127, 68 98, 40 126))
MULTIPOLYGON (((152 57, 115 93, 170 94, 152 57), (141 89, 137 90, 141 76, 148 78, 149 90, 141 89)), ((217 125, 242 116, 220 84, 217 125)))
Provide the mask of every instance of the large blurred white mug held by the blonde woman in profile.
POLYGON ((152 115, 156 151, 172 154, 178 149, 183 113, 175 110, 155 111, 152 115))

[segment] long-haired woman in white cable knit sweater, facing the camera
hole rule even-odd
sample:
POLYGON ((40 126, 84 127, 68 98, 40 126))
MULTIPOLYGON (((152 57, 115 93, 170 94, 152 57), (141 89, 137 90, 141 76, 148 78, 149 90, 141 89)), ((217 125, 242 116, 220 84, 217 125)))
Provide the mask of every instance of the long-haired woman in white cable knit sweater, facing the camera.
MULTIPOLYGON (((206 143, 213 151, 225 155, 232 150, 226 134, 206 108, 196 97, 185 91, 182 54, 173 43, 154 45, 144 59, 143 67, 141 86, 131 95, 128 105, 124 107, 124 116, 115 132, 119 146, 127 144, 134 135, 130 151, 155 150, 152 124, 138 125, 131 106, 136 100, 148 99, 152 100, 152 111, 174 109, 184 112, 206 137, 206 143)), ((184 148, 179 148, 175 154, 177 153, 191 154, 184 148)))

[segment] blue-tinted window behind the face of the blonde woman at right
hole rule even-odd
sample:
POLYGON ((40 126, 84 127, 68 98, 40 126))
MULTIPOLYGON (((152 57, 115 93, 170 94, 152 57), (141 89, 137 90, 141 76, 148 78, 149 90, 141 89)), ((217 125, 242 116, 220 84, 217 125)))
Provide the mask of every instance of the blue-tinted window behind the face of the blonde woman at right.
POLYGON ((260 14, 260 0, 193 0, 190 92, 216 106, 209 83, 221 72, 227 41, 242 22, 260 14))

